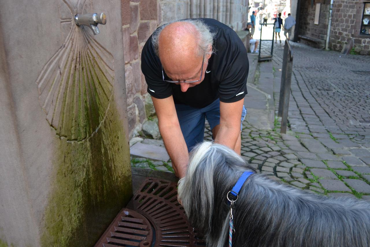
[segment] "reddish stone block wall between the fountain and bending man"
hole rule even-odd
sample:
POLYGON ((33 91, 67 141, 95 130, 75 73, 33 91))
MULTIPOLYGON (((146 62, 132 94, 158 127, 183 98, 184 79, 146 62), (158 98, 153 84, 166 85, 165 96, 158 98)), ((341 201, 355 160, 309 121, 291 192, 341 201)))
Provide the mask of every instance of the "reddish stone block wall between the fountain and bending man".
POLYGON ((141 50, 149 36, 163 23, 189 18, 189 1, 122 0, 123 49, 130 137, 141 130, 147 119, 147 84, 141 72, 141 50))

